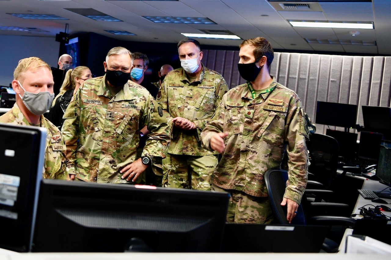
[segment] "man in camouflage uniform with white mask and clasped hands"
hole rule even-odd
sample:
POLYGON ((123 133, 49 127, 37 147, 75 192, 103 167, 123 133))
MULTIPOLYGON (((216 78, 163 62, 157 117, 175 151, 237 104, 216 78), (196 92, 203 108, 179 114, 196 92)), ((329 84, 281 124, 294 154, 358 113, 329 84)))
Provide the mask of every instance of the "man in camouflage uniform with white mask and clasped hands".
POLYGON ((201 147, 200 134, 228 87, 219 73, 201 63, 203 52, 198 41, 179 41, 178 53, 182 68, 167 74, 156 97, 173 125, 163 160, 163 186, 210 190, 217 152, 201 147))

